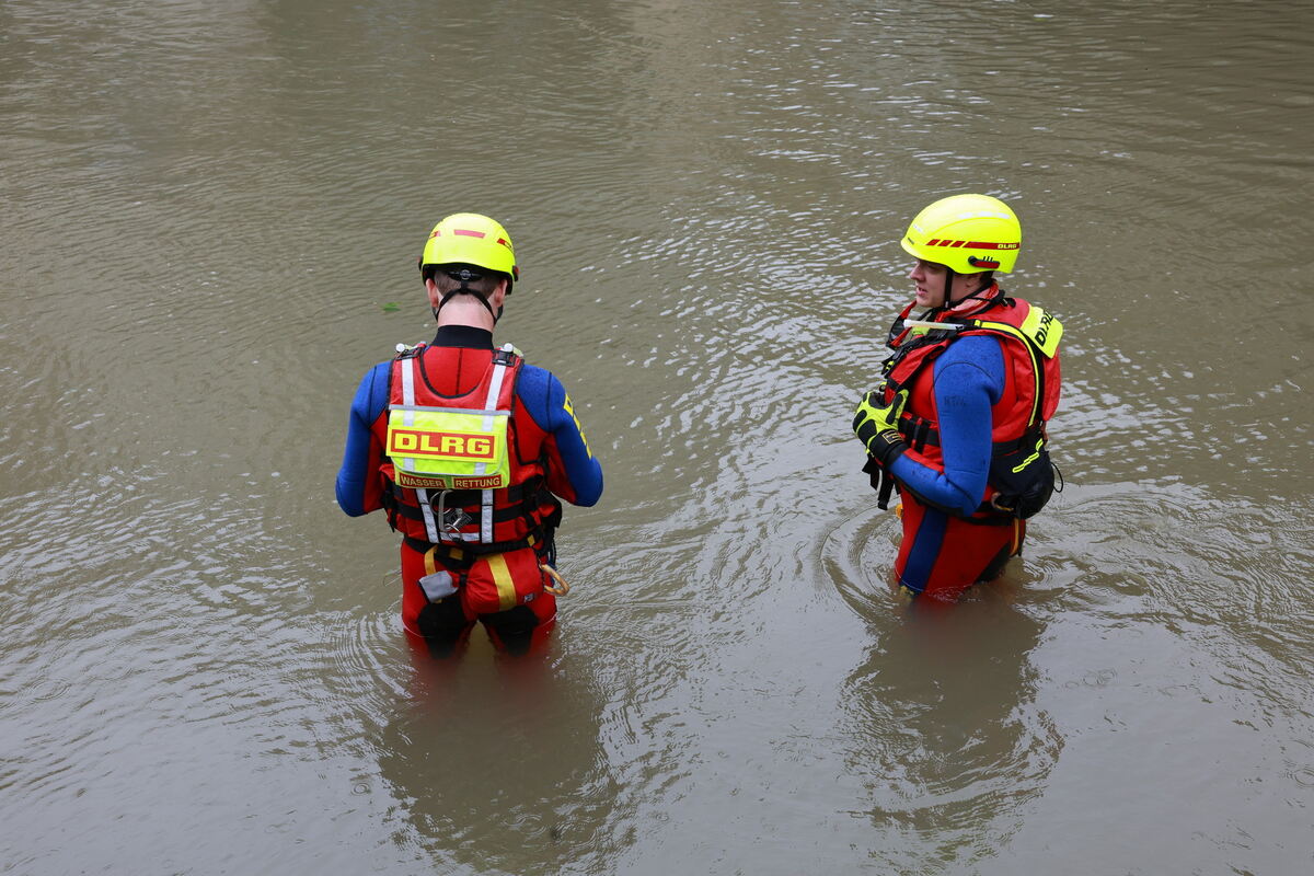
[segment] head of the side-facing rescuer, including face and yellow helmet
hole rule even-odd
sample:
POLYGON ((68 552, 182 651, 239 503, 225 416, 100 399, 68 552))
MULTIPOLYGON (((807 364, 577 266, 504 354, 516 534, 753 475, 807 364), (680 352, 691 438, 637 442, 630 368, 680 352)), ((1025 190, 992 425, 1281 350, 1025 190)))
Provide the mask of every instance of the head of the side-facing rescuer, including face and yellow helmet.
POLYGON ((946 307, 971 298, 1009 272, 1022 246, 1022 226, 1007 204, 987 194, 954 194, 918 213, 900 240, 916 265, 920 307, 946 307))

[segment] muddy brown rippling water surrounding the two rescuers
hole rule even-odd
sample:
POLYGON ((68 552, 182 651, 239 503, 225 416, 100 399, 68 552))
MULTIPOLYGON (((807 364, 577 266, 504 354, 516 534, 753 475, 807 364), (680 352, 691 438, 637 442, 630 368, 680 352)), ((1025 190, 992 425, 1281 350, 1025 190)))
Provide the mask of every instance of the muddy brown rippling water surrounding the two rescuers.
POLYGON ((4 0, 0 869, 1306 872, 1311 25, 4 0), (909 616, 848 422, 963 190, 1064 322, 1067 489, 909 616), (414 663, 332 499, 466 209, 607 477, 537 667, 414 663))

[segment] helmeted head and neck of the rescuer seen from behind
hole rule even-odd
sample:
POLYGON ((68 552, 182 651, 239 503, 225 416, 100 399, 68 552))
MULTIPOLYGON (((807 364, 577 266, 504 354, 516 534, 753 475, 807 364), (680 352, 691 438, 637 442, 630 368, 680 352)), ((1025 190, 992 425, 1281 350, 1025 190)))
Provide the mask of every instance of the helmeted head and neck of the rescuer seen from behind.
POLYGON ((511 235, 478 213, 453 213, 434 226, 419 257, 434 317, 449 307, 452 322, 497 322, 520 278, 511 235))

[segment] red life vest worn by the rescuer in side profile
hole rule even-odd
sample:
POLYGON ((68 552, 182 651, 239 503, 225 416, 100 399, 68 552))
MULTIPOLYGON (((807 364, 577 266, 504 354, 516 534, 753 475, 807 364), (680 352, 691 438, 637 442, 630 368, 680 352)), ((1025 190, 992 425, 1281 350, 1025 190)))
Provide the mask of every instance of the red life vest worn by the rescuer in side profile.
MULTIPOLYGON (((1046 452, 1045 423, 1059 403, 1058 340, 1062 326, 1021 298, 997 296, 970 318, 941 315, 945 330, 907 328, 908 310, 895 320, 890 347, 895 353, 883 365, 884 401, 908 390, 899 432, 909 457, 937 471, 945 470, 936 411, 934 361, 964 335, 993 335, 1004 343, 1004 391, 991 408, 991 473, 982 504, 972 520, 1007 523, 1000 517, 1030 516, 1049 499, 1054 473, 1046 452), (949 328, 947 326, 955 326, 949 328), (1038 506, 1017 511, 1013 502, 1031 490, 1038 506)), ((954 512, 959 514, 959 512, 954 512)))

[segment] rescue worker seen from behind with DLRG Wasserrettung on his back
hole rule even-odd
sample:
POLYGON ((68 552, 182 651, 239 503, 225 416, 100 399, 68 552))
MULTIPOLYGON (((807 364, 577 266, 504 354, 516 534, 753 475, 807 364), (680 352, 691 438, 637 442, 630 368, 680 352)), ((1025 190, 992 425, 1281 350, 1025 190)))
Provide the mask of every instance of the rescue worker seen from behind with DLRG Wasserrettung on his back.
POLYGON ((438 334, 365 373, 351 405, 338 504, 384 508, 401 532, 402 625, 448 657, 481 621, 493 645, 545 645, 556 619, 553 533, 565 499, 591 506, 602 468, 570 397, 493 328, 519 280, 511 236, 476 213, 439 222, 419 259, 438 334))

